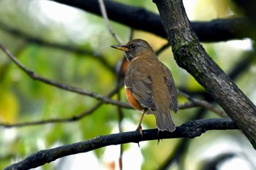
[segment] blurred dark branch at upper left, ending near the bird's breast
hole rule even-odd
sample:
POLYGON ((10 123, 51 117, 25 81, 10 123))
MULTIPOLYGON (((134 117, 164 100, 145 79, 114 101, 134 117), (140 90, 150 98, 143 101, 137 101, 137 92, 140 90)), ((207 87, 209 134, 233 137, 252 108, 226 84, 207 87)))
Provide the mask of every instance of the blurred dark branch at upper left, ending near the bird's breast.
POLYGON ((113 66, 111 66, 111 64, 108 63, 108 61, 102 55, 100 55, 99 53, 96 53, 94 51, 84 50, 79 47, 75 47, 72 45, 64 45, 64 44, 60 44, 57 42, 48 42, 48 41, 45 41, 44 39, 39 39, 37 37, 26 34, 22 31, 18 30, 17 28, 12 28, 10 26, 7 26, 7 24, 4 24, 2 22, 0 22, 0 28, 1 28, 1 30, 6 31, 7 33, 11 34, 12 36, 18 36, 18 37, 24 39, 26 42, 29 42, 29 43, 32 43, 35 45, 56 48, 56 49, 68 51, 70 53, 86 55, 91 58, 95 58, 99 61, 99 63, 102 63, 103 66, 105 66, 108 70, 110 70, 110 72, 114 72, 113 66))

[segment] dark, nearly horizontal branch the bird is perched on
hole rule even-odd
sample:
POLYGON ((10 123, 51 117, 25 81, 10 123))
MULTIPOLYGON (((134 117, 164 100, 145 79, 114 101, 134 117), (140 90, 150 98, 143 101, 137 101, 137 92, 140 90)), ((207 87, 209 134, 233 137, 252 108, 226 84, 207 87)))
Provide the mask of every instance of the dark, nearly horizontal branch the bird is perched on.
MULTIPOLYGON (((110 134, 106 136, 98 136, 85 142, 78 142, 74 144, 67 144, 61 147, 56 147, 49 150, 41 150, 34 155, 30 155, 23 161, 12 164, 5 168, 5 170, 25 170, 33 169, 42 166, 45 163, 50 163, 58 158, 67 155, 74 155, 80 152, 89 152, 101 147, 116 144, 126 144, 130 142, 142 142, 157 139, 173 139, 173 138, 195 138, 209 130, 230 130, 238 129, 235 123, 229 118, 224 119, 202 119, 192 120, 176 127, 176 131, 170 133, 168 131, 161 131, 158 135, 157 129, 144 130, 143 139, 139 131, 129 131, 120 134, 110 134)), ((157 144, 157 142, 156 142, 157 144)))

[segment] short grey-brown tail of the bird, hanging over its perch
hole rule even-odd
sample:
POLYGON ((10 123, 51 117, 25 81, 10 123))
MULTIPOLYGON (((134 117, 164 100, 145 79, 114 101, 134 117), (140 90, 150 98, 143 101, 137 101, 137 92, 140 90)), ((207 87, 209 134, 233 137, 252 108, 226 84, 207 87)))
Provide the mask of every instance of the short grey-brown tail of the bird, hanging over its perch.
POLYGON ((154 111, 154 116, 156 117, 157 128, 159 131, 175 131, 175 125, 173 123, 172 117, 170 117, 170 111, 162 112, 160 109, 154 111))

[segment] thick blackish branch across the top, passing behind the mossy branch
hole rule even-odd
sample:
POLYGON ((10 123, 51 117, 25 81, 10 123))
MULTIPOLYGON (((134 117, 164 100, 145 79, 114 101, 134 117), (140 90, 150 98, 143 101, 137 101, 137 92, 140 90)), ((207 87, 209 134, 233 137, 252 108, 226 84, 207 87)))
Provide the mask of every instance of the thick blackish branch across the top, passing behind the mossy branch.
MULTIPOLYGON (((99 2, 95 0, 52 0, 71 7, 84 9, 96 15, 101 15, 99 2)), ((166 38, 159 15, 149 12, 142 7, 132 7, 116 1, 105 0, 108 18, 126 26, 148 31, 166 38)), ((201 42, 219 42, 230 39, 244 39, 248 37, 244 28, 247 27, 246 20, 241 18, 217 19, 209 22, 191 22, 201 42)))

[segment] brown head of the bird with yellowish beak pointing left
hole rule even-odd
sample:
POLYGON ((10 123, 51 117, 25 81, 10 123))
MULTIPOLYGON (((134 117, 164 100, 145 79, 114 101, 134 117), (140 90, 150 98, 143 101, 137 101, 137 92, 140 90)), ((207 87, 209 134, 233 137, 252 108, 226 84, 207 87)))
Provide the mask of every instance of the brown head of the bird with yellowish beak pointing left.
POLYGON ((111 45, 111 47, 124 51, 127 61, 134 61, 138 57, 148 53, 154 55, 152 47, 143 39, 133 39, 126 45, 111 45))

